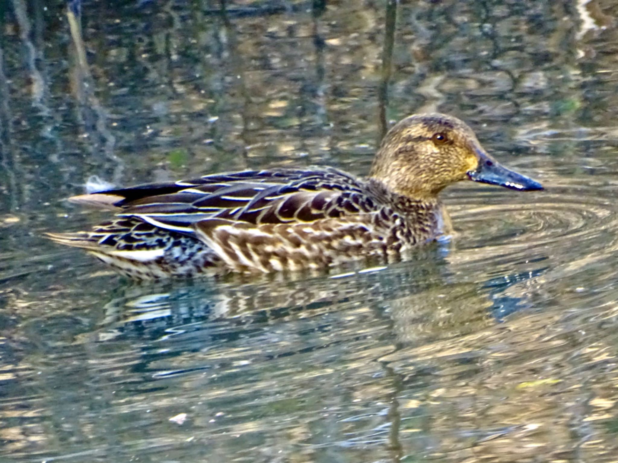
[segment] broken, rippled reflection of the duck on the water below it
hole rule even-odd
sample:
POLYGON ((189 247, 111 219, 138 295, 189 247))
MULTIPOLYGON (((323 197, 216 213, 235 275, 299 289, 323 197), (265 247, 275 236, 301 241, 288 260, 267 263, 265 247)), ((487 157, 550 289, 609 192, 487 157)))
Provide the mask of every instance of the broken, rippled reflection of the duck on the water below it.
POLYGON ((319 277, 272 274, 247 282, 243 275, 230 275, 227 281, 208 283, 129 284, 106 304, 100 329, 106 339, 139 332, 153 340, 175 338, 193 349, 195 342, 212 346, 216 339, 235 339, 246 330, 305 319, 322 320, 321 332, 328 338, 339 322, 347 324, 344 320, 352 317, 365 320, 355 330, 362 331, 365 322, 383 324, 399 343, 411 346, 483 330, 506 312, 529 306, 517 288, 533 282, 543 269, 501 278, 509 283, 499 286, 462 282, 452 274, 446 246, 418 249, 415 265, 402 262, 319 277))

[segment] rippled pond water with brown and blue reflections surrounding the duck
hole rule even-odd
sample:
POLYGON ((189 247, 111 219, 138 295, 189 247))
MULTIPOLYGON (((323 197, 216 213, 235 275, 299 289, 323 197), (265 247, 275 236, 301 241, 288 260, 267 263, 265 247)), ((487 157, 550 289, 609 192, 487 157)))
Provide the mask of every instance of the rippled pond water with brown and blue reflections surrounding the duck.
POLYGON ((0 10, 0 460, 616 461, 612 2, 111 4, 0 10), (415 262, 138 284, 42 238, 93 175, 363 174, 434 110, 546 190, 449 188, 415 262))

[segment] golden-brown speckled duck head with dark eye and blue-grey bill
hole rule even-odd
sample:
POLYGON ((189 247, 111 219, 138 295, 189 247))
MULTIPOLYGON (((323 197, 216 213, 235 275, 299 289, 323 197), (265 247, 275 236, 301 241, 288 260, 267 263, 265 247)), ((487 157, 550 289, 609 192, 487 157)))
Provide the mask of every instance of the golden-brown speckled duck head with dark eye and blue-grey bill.
POLYGON ((543 190, 538 181, 499 164, 465 122, 445 114, 415 114, 394 125, 384 136, 370 177, 412 198, 435 196, 459 180, 543 190))

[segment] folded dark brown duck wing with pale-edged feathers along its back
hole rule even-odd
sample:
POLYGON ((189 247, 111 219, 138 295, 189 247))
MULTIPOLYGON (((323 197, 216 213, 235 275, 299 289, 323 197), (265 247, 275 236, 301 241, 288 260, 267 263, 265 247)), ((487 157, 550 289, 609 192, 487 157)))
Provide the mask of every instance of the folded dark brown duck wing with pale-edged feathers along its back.
POLYGON ((193 235, 195 224, 213 219, 260 226, 376 212, 376 201, 367 188, 365 181, 348 173, 315 167, 205 175, 71 200, 112 208, 121 217, 137 217, 156 227, 193 235))

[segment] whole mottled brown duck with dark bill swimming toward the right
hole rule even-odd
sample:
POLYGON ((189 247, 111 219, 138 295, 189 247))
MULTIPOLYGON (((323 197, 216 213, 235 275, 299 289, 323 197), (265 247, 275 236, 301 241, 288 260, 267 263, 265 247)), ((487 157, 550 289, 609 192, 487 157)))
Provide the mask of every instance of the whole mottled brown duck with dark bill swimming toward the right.
POLYGON ((138 280, 392 262, 451 233, 439 193, 463 180, 543 190, 499 164, 462 120, 413 114, 386 133, 367 177, 287 167, 80 194, 69 201, 114 217, 47 236, 138 280))

